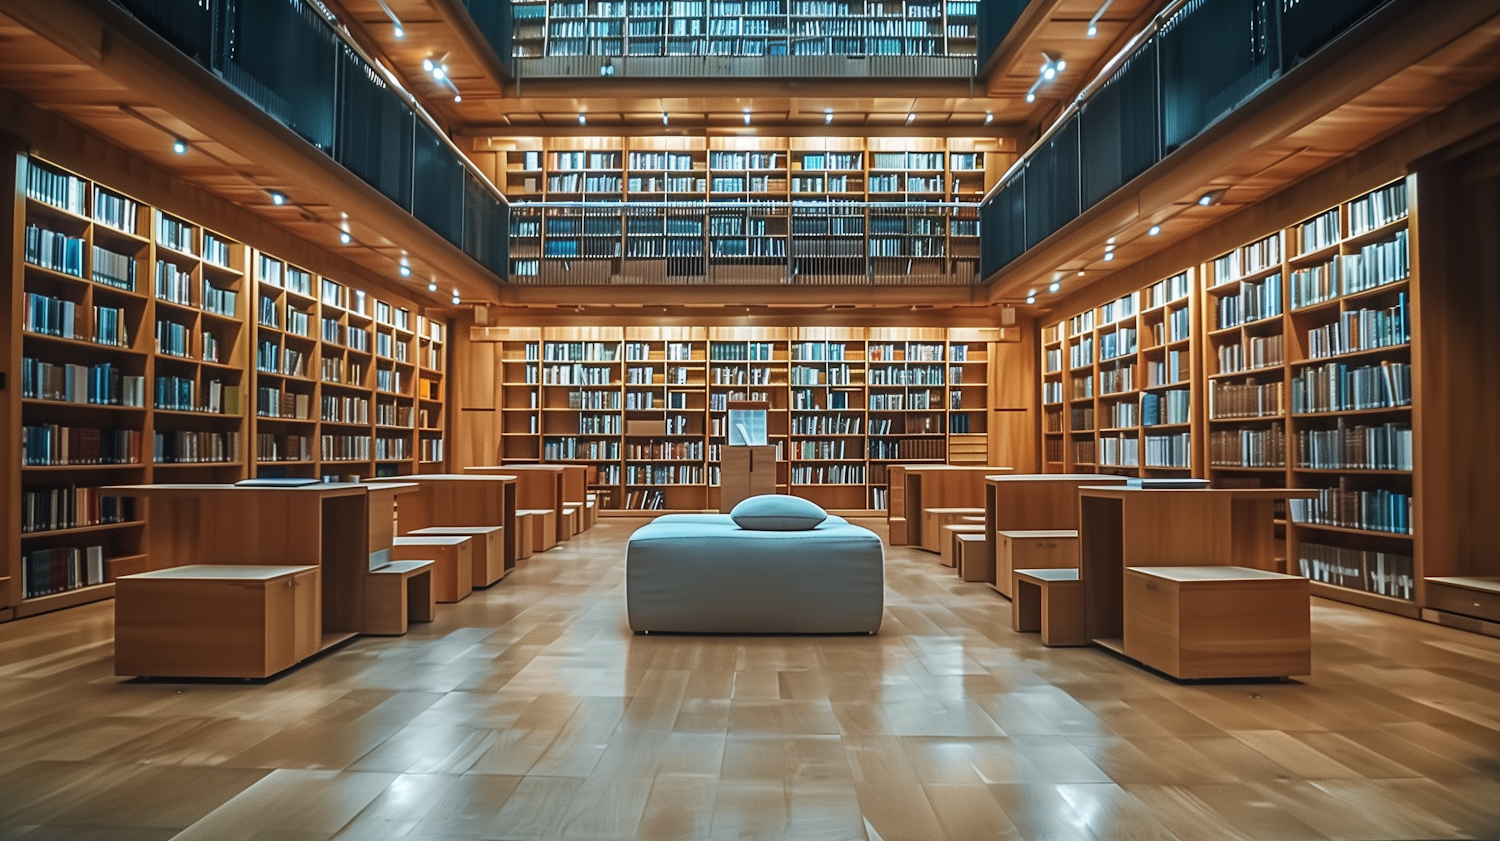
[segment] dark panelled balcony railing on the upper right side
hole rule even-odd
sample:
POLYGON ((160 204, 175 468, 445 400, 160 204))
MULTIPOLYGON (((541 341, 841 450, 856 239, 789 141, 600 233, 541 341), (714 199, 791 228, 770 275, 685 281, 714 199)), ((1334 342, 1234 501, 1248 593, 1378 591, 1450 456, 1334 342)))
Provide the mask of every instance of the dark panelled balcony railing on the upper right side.
POLYGON ((1388 0, 1178 0, 986 196, 990 277, 1388 0))

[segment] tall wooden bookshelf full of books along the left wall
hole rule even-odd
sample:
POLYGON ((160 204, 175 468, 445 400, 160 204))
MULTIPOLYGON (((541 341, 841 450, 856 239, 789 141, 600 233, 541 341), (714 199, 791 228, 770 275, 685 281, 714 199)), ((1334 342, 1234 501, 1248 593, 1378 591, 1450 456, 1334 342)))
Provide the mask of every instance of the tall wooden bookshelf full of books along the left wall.
MULTIPOLYGON (((345 330, 384 328, 393 348, 408 345, 405 360, 366 349, 368 376, 382 364, 411 372, 400 390, 370 400, 357 429, 376 451, 340 462, 338 472, 441 469, 442 321, 381 327, 333 313, 316 297, 324 279, 219 231, 45 160, 21 156, 15 172, 22 250, 10 261, 4 334, 14 372, 6 411, 20 447, 8 460, 6 496, 15 502, 3 532, 0 615, 110 598, 117 576, 152 568, 144 510, 100 495, 102 486, 332 474, 318 457, 320 396, 340 390, 324 390, 318 372, 324 360, 360 351, 344 345, 346 333, 324 340, 326 318, 345 330), (279 417, 261 411, 267 390, 279 417), (411 420, 422 417, 418 403, 430 421, 420 432, 411 420), (378 420, 382 406, 394 409, 394 423, 378 420), (436 442, 428 447, 436 459, 418 459, 418 435, 436 442), (298 442, 298 457, 290 457, 285 447, 297 439, 306 447, 298 442), (381 454, 381 441, 394 444, 381 454)), ((374 387, 368 394, 376 396, 374 387)))

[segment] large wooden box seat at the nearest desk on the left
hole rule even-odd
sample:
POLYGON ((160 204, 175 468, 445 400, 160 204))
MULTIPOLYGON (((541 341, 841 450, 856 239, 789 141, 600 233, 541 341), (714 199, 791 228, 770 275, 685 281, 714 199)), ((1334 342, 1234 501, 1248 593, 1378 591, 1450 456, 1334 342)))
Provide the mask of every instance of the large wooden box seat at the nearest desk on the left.
POLYGON ((316 567, 172 567, 114 588, 114 673, 268 678, 318 652, 316 567))

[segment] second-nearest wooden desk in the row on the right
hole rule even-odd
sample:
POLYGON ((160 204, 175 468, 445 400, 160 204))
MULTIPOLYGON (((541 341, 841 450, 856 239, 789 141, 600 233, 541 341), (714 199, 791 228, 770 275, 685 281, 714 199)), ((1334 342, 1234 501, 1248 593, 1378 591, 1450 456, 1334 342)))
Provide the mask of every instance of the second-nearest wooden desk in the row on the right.
POLYGON ((1077 531, 1078 489, 1125 484, 1125 477, 1098 474, 1020 474, 984 477, 984 580, 1011 597, 1011 571, 999 562, 996 532, 1077 531))

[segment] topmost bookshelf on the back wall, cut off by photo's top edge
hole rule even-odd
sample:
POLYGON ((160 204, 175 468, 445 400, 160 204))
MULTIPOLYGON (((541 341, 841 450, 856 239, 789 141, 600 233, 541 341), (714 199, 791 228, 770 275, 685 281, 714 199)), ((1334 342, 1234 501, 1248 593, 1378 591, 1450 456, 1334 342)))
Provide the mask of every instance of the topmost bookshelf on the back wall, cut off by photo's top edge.
POLYGON ((741 61, 750 75, 758 63, 777 73, 816 72, 819 58, 926 58, 906 70, 972 75, 978 48, 974 0, 538 0, 512 10, 524 76, 576 69, 578 58, 600 75, 706 75, 702 58, 759 60, 741 61))

